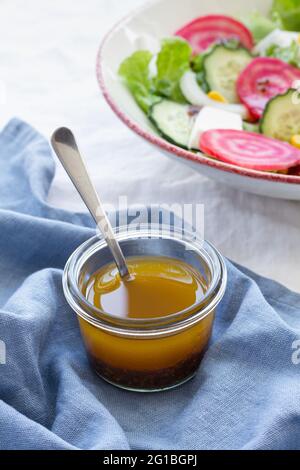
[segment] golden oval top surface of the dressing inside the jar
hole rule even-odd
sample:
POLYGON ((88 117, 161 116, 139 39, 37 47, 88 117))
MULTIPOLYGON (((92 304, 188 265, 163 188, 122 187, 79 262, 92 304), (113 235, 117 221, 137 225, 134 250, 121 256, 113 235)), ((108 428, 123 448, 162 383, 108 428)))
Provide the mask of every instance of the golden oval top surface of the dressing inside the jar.
POLYGON ((86 286, 85 296, 95 307, 122 318, 158 318, 181 312, 204 297, 205 284, 188 264, 171 258, 129 258, 128 279, 115 265, 105 266, 86 286))

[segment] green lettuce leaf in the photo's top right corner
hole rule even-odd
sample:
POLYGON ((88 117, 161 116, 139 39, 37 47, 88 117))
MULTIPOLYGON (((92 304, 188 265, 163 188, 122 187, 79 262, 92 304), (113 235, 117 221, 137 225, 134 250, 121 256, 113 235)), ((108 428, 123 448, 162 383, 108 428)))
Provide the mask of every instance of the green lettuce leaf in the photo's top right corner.
POLYGON ((272 15, 280 18, 284 29, 300 31, 299 0, 273 0, 272 15))

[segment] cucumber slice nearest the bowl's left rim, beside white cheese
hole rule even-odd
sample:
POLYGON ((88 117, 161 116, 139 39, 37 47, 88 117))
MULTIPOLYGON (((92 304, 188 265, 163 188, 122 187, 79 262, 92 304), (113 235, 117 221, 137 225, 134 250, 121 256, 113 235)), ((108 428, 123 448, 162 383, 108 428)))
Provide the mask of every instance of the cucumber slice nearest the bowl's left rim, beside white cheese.
POLYGON ((162 100, 152 106, 149 117, 162 137, 188 149, 196 115, 195 109, 189 105, 162 100))

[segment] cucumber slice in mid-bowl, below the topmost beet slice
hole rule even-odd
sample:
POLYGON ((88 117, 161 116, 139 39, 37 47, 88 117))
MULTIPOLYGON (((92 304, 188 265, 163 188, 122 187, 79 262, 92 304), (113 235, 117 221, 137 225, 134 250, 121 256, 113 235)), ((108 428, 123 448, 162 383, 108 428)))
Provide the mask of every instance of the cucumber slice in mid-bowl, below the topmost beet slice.
POLYGON ((224 44, 215 46, 203 61, 205 80, 210 90, 221 93, 229 103, 239 103, 237 79, 252 59, 244 47, 231 49, 224 44))

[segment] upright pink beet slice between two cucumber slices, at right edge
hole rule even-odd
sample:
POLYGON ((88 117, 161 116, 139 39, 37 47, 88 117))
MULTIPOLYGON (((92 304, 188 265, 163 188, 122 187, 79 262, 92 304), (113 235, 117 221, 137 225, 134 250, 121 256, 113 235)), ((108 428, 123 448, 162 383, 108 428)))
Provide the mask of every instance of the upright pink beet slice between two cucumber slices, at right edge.
POLYGON ((297 88, 300 70, 280 59, 258 57, 242 71, 237 81, 241 102, 255 119, 260 119, 271 98, 297 88))

